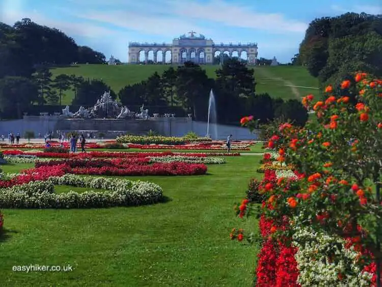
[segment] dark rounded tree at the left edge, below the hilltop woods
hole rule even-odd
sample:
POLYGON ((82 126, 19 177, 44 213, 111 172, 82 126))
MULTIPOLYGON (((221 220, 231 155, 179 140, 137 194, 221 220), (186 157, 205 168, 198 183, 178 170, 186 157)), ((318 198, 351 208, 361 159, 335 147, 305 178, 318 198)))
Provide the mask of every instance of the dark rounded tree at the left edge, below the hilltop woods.
POLYGON ((3 118, 21 118, 38 101, 38 86, 25 77, 6 76, 0 80, 0 113, 3 118))

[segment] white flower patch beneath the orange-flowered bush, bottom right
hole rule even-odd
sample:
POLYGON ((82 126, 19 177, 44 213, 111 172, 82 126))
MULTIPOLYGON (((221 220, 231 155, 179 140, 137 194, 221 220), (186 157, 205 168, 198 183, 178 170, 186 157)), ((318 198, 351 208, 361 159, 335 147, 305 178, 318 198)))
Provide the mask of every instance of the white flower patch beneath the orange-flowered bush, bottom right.
POLYGON ((339 237, 312 228, 297 229, 293 234, 293 245, 301 286, 370 286, 372 274, 362 272, 355 264, 357 252, 345 248, 339 237), (333 262, 329 255, 334 254, 333 262), (338 274, 343 274, 342 280, 338 274))

